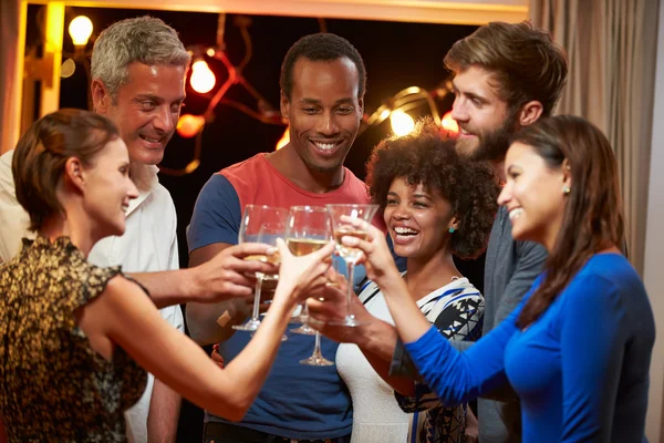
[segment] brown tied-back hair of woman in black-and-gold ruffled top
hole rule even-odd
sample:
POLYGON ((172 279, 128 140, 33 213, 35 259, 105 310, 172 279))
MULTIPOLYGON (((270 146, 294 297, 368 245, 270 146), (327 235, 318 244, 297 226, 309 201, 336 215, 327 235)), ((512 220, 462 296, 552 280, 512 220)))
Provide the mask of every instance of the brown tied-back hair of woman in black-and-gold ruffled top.
POLYGON ((30 215, 30 230, 62 214, 58 187, 70 157, 92 164, 106 144, 117 138, 117 127, 103 115, 63 109, 43 116, 21 136, 13 154, 17 199, 30 215))

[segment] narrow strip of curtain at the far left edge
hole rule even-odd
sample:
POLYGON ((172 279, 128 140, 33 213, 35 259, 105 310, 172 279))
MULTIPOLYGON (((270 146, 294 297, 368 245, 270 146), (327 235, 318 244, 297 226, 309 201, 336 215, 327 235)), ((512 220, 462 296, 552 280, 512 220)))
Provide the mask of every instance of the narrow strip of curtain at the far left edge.
POLYGON ((0 154, 13 150, 19 140, 20 89, 22 68, 19 65, 19 29, 21 0, 0 1, 0 154), (17 94, 17 91, 19 94, 17 94))

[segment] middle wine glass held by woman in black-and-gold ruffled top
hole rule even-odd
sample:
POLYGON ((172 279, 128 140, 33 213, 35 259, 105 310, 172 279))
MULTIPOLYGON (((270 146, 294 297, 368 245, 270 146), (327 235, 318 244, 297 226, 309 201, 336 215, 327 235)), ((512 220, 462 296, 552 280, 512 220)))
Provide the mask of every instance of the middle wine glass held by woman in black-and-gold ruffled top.
MULTIPOLYGON (((286 228, 286 244, 292 255, 300 257, 319 250, 332 239, 330 214, 322 206, 293 206, 289 210, 286 228)), ((313 336, 315 329, 307 324, 309 320, 309 308, 307 303, 301 309, 297 320, 302 322, 293 333, 313 336)))

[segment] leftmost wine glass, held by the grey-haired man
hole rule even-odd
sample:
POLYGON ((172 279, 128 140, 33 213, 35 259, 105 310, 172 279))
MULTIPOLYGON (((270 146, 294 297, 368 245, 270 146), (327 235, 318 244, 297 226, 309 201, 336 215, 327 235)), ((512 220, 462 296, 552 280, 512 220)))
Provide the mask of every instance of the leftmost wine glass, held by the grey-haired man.
MULTIPOLYGON (((288 210, 279 207, 247 205, 240 231, 238 235, 239 243, 264 243, 274 246, 277 238, 283 237, 286 230, 286 219, 288 210)), ((260 260, 264 262, 279 264, 279 253, 271 256, 252 255, 245 257, 245 260, 260 260)), ((259 307, 260 291, 264 280, 277 280, 279 275, 266 275, 256 272, 256 288, 253 290, 253 311, 251 318, 242 324, 235 324, 232 329, 238 331, 256 331, 260 326, 259 307)))

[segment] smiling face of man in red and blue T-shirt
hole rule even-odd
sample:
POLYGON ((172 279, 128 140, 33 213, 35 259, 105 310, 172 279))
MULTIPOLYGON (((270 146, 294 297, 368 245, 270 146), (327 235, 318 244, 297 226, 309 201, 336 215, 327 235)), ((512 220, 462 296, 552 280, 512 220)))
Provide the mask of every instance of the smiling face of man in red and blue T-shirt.
POLYGON ((359 79, 346 58, 295 62, 292 93, 281 97, 281 113, 290 124, 290 145, 309 169, 333 173, 342 167, 362 119, 359 79))

